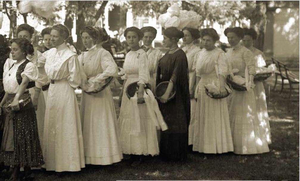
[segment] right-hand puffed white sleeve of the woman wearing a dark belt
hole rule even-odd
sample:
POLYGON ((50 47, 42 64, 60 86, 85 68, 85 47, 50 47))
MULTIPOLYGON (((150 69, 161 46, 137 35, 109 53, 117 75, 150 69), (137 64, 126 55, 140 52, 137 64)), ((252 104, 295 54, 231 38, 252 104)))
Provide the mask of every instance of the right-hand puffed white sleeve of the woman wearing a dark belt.
POLYGON ((67 79, 69 81, 70 86, 76 88, 81 83, 81 73, 77 55, 71 56, 67 61, 69 70, 69 76, 67 79))

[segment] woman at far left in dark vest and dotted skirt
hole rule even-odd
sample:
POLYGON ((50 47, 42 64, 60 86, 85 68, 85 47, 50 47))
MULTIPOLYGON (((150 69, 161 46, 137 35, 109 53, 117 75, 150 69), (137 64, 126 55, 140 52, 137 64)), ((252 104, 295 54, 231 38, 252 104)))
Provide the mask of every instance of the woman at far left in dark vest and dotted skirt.
POLYGON ((13 111, 5 109, 0 161, 6 166, 13 167, 9 180, 19 180, 20 167, 24 167, 25 179, 29 179, 32 178, 30 167, 42 166, 44 159, 32 101, 29 101, 22 109, 19 105, 21 96, 29 94, 28 89, 33 87, 38 79, 38 68, 26 59, 28 54, 34 53, 34 49, 26 38, 16 38, 11 43, 11 54, 16 62, 11 64, 10 61, 6 61, 4 64, 5 95, 0 103, 0 111, 5 109, 3 106, 8 100, 13 100, 10 104, 13 111))

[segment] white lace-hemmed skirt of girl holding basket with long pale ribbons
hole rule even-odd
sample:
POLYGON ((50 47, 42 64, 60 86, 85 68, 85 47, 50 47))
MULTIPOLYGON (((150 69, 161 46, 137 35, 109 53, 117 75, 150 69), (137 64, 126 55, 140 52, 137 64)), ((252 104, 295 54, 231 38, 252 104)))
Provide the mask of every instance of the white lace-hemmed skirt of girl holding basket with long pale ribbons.
POLYGON ((120 110, 120 116, 118 119, 120 127, 120 141, 122 152, 124 154, 134 155, 158 155, 158 138, 157 130, 153 121, 151 120, 148 112, 146 103, 138 104, 140 112, 140 133, 130 134, 130 127, 132 124, 132 111, 133 107, 126 95, 126 88, 130 83, 136 82, 138 75, 128 75, 128 79, 124 86, 124 92, 122 97, 122 106, 120 110))

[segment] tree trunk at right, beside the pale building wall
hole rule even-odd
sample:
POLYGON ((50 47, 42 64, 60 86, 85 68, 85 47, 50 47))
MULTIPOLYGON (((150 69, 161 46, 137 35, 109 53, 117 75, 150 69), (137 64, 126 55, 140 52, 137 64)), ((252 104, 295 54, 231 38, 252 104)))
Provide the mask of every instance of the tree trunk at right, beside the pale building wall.
POLYGON ((265 30, 267 26, 267 7, 268 1, 256 1, 256 16, 253 16, 253 19, 250 20, 250 27, 257 32, 254 47, 260 51, 263 51, 264 47, 265 30))

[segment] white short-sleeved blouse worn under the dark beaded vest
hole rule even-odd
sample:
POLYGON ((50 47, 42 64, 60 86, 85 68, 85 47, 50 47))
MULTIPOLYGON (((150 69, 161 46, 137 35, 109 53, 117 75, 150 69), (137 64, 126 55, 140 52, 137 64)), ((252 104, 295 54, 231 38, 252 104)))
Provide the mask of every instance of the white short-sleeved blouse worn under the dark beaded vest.
MULTIPOLYGON (((12 59, 8 58, 3 67, 3 86, 4 91, 8 94, 16 94, 19 89, 19 83, 16 79, 16 72, 19 66, 24 63, 26 59, 20 61, 19 63, 13 62, 12 59), (13 65, 14 64, 14 65, 13 65), (13 67, 11 67, 13 65, 13 67)), ((21 73, 21 77, 28 77, 29 81, 38 80, 38 68, 32 62, 26 64, 24 71, 21 73)), ((27 91, 26 89, 25 91, 27 91)))

